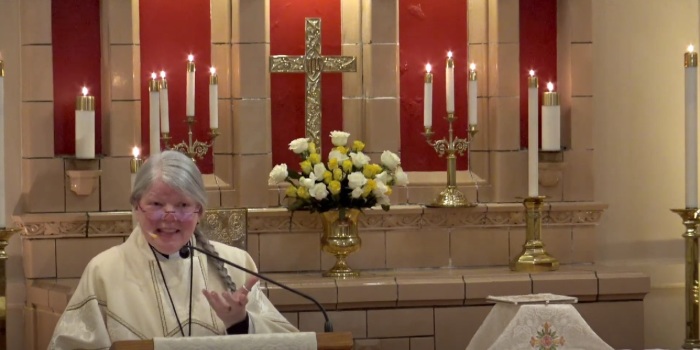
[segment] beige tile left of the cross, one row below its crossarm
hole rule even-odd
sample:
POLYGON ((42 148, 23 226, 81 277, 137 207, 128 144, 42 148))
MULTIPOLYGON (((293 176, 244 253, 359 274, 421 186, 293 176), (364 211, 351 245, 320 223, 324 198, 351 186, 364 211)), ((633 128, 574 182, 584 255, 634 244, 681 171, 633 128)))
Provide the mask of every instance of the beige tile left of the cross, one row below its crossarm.
POLYGON ((272 152, 270 100, 234 100, 232 128, 233 153, 272 152))

